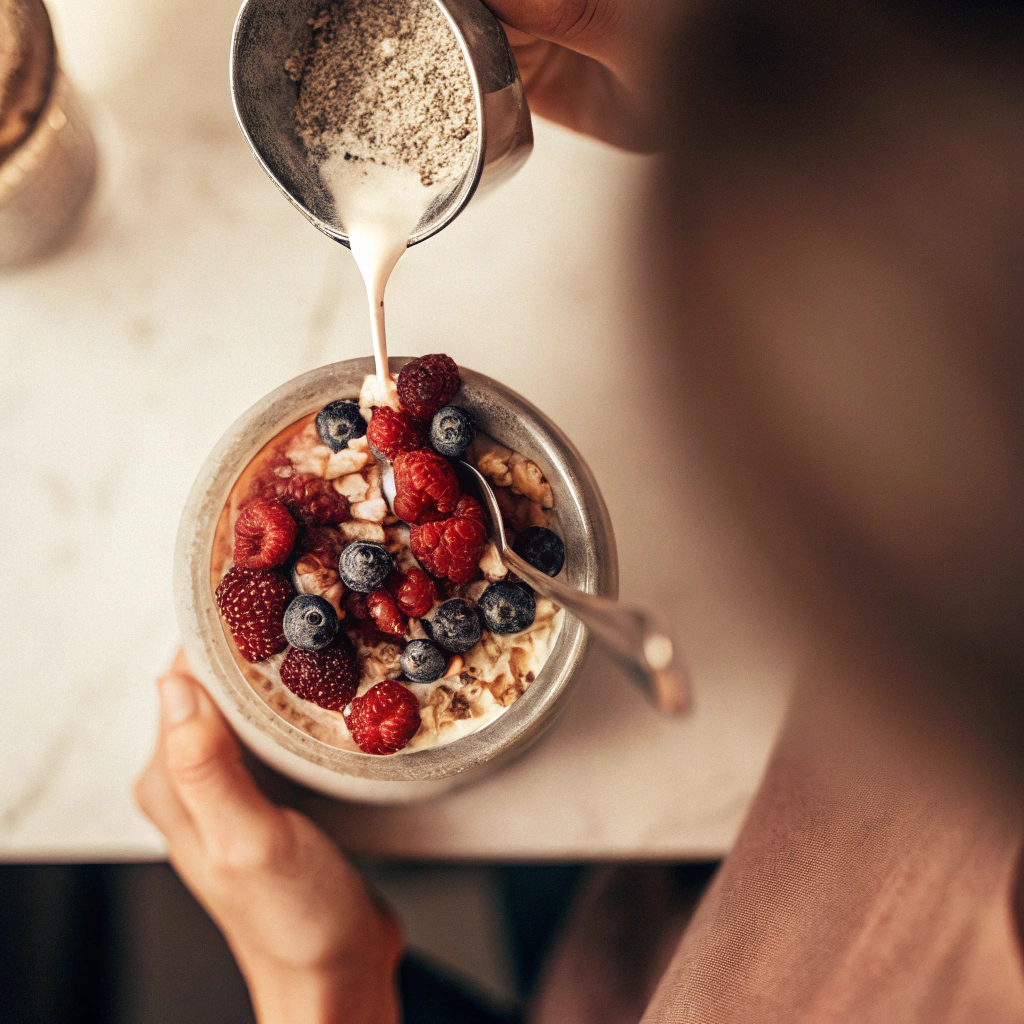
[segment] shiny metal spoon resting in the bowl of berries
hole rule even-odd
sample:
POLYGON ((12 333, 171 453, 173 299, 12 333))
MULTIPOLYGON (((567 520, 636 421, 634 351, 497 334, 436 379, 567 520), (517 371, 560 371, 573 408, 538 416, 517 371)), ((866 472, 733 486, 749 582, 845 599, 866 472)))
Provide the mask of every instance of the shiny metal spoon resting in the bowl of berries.
MULTIPOLYGON (((675 642, 660 616, 645 608, 631 608, 597 594, 573 590, 534 568, 509 545, 498 499, 486 477, 464 460, 456 465, 472 474, 480 488, 490 519, 490 539, 502 561, 538 594, 575 615, 662 711, 673 715, 688 711, 692 699, 689 678, 676 657, 675 642)), ((381 490, 393 511, 394 474, 390 463, 382 461, 380 467, 381 490)))

